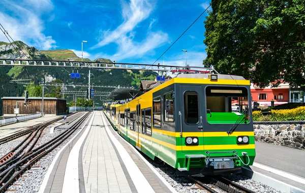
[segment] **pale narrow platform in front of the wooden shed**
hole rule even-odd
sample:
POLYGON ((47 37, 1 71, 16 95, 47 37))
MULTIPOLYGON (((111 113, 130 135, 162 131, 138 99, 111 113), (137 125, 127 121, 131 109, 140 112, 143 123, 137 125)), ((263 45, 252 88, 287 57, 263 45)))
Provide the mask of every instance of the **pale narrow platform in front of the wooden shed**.
POLYGON ((15 132, 21 131, 23 129, 26 129, 28 127, 44 123, 46 121, 50 121, 52 119, 56 119, 58 117, 61 117, 59 115, 54 115, 54 116, 45 116, 43 118, 37 118, 37 119, 32 119, 32 120, 27 120, 27 121, 22 121, 6 126, 0 127, 0 138, 6 137, 10 134, 13 134, 15 132))

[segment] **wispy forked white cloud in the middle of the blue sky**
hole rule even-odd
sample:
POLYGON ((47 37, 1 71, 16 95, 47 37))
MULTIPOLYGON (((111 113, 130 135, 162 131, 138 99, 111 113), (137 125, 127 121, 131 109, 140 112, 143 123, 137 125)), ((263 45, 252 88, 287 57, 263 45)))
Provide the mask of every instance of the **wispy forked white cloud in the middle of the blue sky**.
POLYGON ((91 49, 115 43, 118 45, 117 52, 112 56, 103 55, 103 57, 118 61, 126 58, 139 58, 148 51, 154 50, 168 41, 167 33, 150 31, 151 25, 156 22, 156 19, 150 22, 145 40, 141 42, 135 42, 133 40, 136 36, 135 29, 139 23, 149 17, 153 11, 153 5, 144 0, 131 0, 129 4, 122 2, 122 8, 124 22, 113 31, 110 29, 101 31, 101 41, 91 49))

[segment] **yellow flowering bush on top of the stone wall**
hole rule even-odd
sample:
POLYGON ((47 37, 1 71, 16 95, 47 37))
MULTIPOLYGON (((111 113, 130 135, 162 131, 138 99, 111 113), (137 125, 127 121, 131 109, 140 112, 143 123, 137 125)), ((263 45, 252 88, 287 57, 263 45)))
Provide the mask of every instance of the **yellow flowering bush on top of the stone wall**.
POLYGON ((261 111, 252 112, 253 121, 304 121, 305 106, 293 109, 271 110, 270 114, 263 115, 261 111))

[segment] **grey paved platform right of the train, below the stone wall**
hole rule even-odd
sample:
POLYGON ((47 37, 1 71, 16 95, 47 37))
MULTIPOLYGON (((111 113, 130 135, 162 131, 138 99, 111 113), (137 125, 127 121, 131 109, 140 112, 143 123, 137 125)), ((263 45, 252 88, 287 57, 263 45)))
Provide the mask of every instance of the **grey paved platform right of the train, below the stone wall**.
POLYGON ((255 148, 253 171, 305 192, 305 150, 257 141, 255 148))

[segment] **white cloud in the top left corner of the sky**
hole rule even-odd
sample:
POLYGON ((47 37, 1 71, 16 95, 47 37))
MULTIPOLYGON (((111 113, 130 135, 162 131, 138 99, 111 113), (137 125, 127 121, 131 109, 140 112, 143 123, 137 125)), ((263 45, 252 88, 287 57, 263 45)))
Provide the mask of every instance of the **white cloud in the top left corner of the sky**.
MULTIPOLYGON (((20 40, 42 50, 56 47, 52 37, 43 33, 44 22, 40 18, 53 9, 51 1, 29 0, 20 3, 3 0, 0 6, 2 10, 10 11, 9 15, 0 11, 0 21, 13 40, 20 40)), ((4 35, 0 35, 0 41, 8 42, 4 35)))

